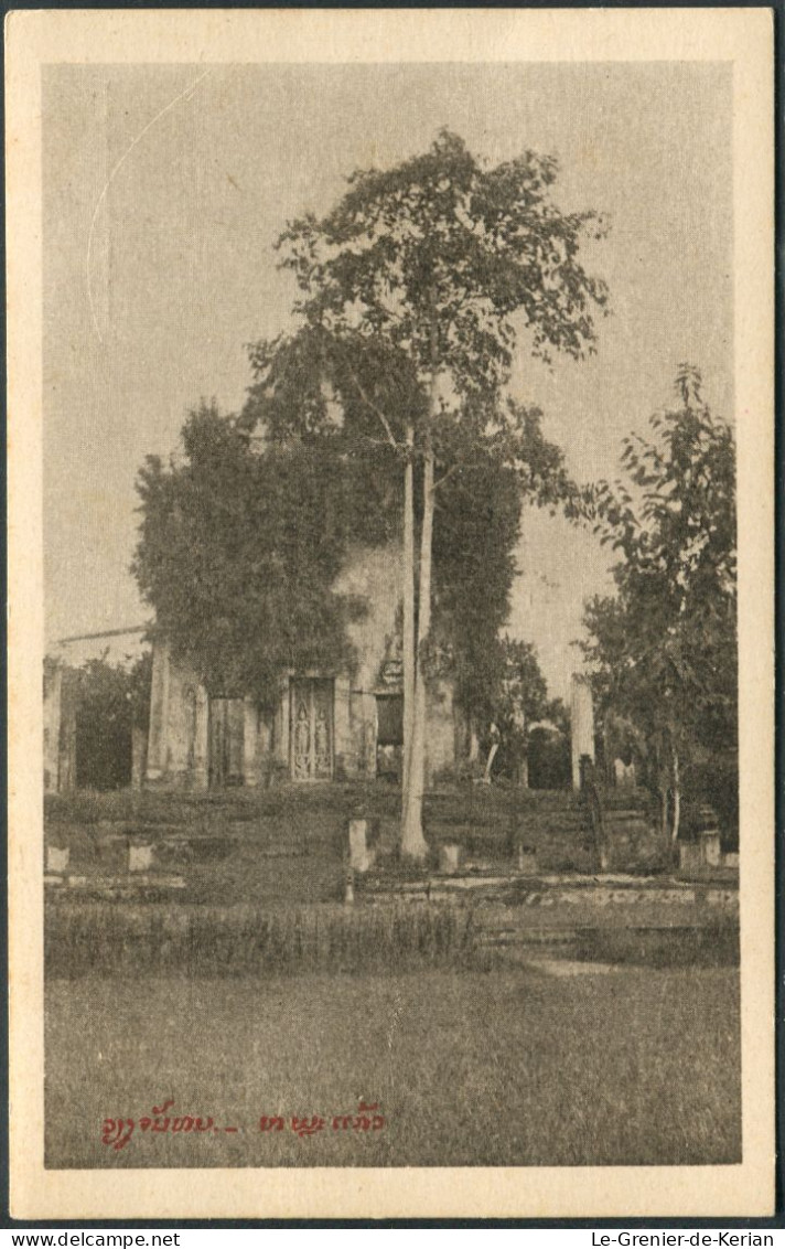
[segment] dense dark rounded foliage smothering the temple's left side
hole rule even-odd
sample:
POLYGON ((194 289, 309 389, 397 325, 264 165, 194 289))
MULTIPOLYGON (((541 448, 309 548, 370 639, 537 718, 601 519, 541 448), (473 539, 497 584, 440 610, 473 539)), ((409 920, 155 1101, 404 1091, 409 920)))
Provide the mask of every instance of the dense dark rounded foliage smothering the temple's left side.
POLYGON ((183 460, 149 457, 134 571, 157 626, 213 696, 272 702, 282 669, 351 659, 346 623, 361 610, 333 583, 347 542, 387 536, 363 510, 351 466, 293 442, 255 453, 215 405, 191 413, 183 460))

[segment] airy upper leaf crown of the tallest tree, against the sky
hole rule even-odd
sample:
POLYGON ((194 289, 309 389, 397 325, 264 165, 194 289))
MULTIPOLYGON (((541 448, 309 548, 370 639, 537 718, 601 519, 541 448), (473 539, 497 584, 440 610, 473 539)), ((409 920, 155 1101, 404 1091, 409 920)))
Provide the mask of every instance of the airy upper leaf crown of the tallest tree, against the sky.
POLYGON ((535 355, 582 355, 607 290, 578 250, 603 224, 553 205, 557 174, 552 156, 532 151, 488 169, 446 130, 393 170, 357 171, 331 214, 305 216, 278 240, 296 310, 311 333, 383 342, 421 381, 436 365, 464 398, 495 395, 507 380, 513 313, 523 312, 535 355))

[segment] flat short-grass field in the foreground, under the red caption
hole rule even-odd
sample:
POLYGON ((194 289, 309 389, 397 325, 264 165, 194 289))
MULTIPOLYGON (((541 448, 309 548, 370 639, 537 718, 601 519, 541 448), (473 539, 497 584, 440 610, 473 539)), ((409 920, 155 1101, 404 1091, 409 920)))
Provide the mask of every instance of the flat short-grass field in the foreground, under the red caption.
POLYGON ((738 1162, 738 985, 705 967, 54 979, 46 1165, 738 1162), (101 1144, 105 1118, 166 1098, 238 1130, 101 1144), (384 1127, 334 1130, 359 1099, 384 1127), (261 1132, 265 1114, 286 1130, 261 1132), (292 1115, 326 1125, 301 1139, 292 1115))

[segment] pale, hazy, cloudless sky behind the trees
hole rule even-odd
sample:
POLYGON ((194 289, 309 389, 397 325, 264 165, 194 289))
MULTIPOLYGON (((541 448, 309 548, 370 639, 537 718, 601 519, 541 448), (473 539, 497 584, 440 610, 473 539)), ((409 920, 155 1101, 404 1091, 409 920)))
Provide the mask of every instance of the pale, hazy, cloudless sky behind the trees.
MULTIPOLYGON (((565 210, 608 215, 585 262, 610 287, 589 361, 549 370, 522 338, 513 392, 583 481, 704 373, 733 420, 730 67, 716 64, 47 66, 44 71, 47 638, 149 617, 129 563, 145 455, 176 448, 191 405, 243 402, 245 343, 285 330, 272 244, 327 211, 358 166, 424 150, 442 126, 497 162, 558 155, 565 210)), ((552 692, 605 552, 524 516, 510 618, 552 692)))

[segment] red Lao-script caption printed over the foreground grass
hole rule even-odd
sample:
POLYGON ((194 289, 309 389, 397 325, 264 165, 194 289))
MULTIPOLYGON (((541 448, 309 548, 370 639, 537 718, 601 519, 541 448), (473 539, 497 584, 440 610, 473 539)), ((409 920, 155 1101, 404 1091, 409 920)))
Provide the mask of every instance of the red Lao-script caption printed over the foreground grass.
MULTIPOLYGON (((208 1139, 225 1132, 242 1132, 242 1128, 226 1128, 216 1124, 212 1115, 170 1114, 175 1099, 170 1098, 161 1105, 154 1105, 150 1114, 139 1119, 104 1119, 101 1144, 111 1149, 125 1149, 136 1130, 142 1133, 207 1133, 208 1139)), ((379 1132, 384 1127, 383 1115, 378 1114, 379 1103, 361 1102, 353 1114, 311 1114, 311 1115, 261 1115, 258 1132, 292 1132, 301 1140, 313 1137, 317 1132, 331 1128, 333 1132, 379 1132)))

